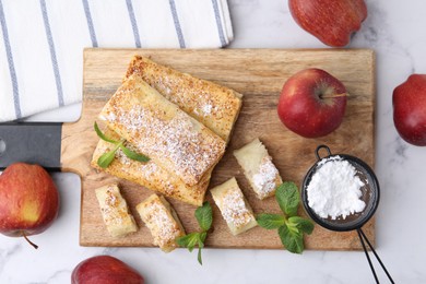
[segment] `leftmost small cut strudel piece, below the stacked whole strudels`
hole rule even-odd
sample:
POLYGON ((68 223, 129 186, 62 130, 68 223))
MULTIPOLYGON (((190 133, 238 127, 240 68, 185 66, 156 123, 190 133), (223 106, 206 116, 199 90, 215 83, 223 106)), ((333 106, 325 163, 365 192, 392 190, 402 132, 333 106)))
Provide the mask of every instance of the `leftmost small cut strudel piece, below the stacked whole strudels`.
POLYGON ((117 185, 108 185, 95 190, 104 223, 113 237, 138 230, 137 223, 129 212, 126 200, 117 185))

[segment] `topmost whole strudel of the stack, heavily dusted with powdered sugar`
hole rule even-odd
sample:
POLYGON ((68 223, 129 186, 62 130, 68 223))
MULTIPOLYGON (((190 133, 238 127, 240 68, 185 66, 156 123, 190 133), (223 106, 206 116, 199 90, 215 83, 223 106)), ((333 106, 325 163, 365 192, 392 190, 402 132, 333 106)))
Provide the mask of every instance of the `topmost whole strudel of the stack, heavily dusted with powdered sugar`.
MULTIPOLYGON (((129 96, 129 93, 119 95, 129 96)), ((123 129, 120 134, 139 153, 146 154, 188 185, 197 184, 225 151, 225 141, 177 107, 165 110, 138 103, 130 109, 126 106, 120 105, 120 97, 110 103, 105 116, 109 123, 123 129)))

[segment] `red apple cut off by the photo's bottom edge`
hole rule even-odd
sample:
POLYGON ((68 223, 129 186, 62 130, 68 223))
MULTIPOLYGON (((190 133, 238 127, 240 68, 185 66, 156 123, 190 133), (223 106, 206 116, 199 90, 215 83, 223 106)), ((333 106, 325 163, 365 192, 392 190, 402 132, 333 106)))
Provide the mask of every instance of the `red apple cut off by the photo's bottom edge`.
POLYGON ((97 256, 80 262, 71 274, 71 284, 143 284, 134 269, 119 259, 97 256))

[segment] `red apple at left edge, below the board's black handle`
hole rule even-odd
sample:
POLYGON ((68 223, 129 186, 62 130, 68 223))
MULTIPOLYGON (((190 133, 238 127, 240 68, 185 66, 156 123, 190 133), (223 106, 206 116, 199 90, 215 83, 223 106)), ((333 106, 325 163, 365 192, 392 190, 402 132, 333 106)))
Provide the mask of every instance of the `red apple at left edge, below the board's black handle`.
POLYGON ((58 190, 43 167, 15 163, 4 169, 0 176, 1 234, 25 238, 40 234, 52 224, 58 211, 58 190))

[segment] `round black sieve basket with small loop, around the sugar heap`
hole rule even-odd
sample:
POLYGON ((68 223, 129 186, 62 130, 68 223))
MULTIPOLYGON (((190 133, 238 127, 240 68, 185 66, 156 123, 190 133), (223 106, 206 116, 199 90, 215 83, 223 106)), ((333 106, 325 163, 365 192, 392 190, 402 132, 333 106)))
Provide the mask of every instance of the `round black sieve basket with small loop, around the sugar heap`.
POLYGON ((336 232, 346 232, 346 230, 353 230, 360 228, 365 223, 367 223, 372 215, 376 212, 377 206, 379 205, 379 199, 380 199, 380 189, 379 189, 379 182, 377 180, 377 177, 372 169, 362 159, 345 155, 345 154, 338 154, 332 155, 330 149, 327 145, 319 145, 316 150, 317 155, 317 163, 313 164, 313 166, 309 169, 309 171, 306 174, 304 178, 304 182, 301 186, 301 202, 304 204, 306 213, 320 226, 336 230, 336 232), (320 150, 326 149, 328 152, 328 156, 320 157, 320 150), (365 184, 364 187, 362 187, 363 197, 362 200, 366 203, 366 206, 363 212, 355 213, 346 216, 345 220, 343 218, 336 218, 332 220, 331 217, 323 218, 320 217, 310 206, 308 203, 308 193, 307 188, 312 179, 312 176, 324 164, 328 163, 329 158, 339 158, 339 161, 347 161, 352 166, 355 167, 357 171, 357 176, 360 178, 360 180, 365 184))

